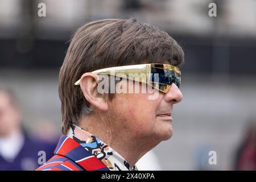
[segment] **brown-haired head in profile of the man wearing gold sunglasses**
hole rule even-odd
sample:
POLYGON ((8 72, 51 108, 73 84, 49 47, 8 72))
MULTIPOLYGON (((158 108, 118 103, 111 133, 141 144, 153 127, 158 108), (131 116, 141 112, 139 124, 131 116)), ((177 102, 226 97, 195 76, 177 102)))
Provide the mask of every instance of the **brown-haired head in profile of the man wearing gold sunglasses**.
POLYGON ((170 138, 172 119, 168 115, 172 113, 172 105, 182 99, 175 84, 166 94, 159 93, 156 100, 148 100, 148 93, 100 94, 98 76, 91 72, 146 63, 179 67, 183 62, 184 53, 176 41, 150 24, 134 19, 105 19, 85 24, 73 36, 60 71, 63 133, 67 133, 72 123, 93 116, 108 119, 113 130, 127 131, 131 136, 170 138), (80 78, 80 86, 76 86, 80 78))

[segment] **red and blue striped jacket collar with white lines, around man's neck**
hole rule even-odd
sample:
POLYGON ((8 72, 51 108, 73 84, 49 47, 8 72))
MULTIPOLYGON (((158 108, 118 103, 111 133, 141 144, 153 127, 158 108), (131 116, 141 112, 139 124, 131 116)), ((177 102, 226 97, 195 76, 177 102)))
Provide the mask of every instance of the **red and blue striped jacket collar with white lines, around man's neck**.
POLYGON ((79 164, 86 171, 104 170, 109 171, 101 160, 90 154, 80 143, 66 135, 61 135, 54 154, 65 156, 76 164, 79 164))

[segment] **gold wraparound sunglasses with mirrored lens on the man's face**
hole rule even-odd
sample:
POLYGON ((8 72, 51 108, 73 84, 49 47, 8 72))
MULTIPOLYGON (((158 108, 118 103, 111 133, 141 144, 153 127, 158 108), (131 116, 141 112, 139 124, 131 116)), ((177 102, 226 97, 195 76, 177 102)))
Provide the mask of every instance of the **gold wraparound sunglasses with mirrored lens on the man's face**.
MULTIPOLYGON (((118 76, 128 80, 144 82, 163 93, 167 93, 170 90, 172 83, 178 88, 180 87, 180 69, 170 64, 127 65, 98 69, 92 73, 118 76), (145 76, 141 76, 142 74, 145 76)), ((80 85, 80 80, 75 85, 80 85)))

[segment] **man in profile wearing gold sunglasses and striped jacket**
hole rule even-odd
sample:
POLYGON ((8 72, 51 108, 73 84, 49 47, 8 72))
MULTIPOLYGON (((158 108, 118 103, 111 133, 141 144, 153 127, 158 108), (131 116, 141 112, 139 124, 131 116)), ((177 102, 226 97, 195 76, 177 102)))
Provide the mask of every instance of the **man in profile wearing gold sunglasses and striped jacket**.
POLYGON ((80 27, 59 75, 64 135, 38 170, 137 170, 146 152, 172 136, 183 62, 176 41, 150 24, 104 19, 80 27), (109 93, 113 77, 115 91, 128 86, 147 92, 109 93))

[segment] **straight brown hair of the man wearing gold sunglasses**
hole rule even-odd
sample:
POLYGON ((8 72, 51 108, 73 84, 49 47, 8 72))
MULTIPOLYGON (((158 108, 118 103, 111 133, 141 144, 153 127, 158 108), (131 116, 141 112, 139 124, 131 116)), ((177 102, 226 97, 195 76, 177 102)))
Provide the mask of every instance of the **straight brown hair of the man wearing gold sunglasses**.
POLYGON ((167 32, 135 19, 103 19, 80 27, 73 35, 59 74, 63 133, 67 134, 72 123, 91 111, 80 87, 74 85, 83 73, 143 64, 145 60, 166 60, 179 67, 184 53, 167 32))

